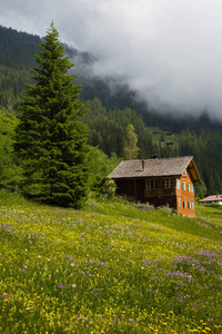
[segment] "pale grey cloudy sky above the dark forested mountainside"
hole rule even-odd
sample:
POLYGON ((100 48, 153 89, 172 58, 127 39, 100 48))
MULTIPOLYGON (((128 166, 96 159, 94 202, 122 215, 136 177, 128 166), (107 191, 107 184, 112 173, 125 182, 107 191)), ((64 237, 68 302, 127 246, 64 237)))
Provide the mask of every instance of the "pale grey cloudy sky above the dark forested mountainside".
POLYGON ((208 108, 222 119, 221 0, 0 0, 0 24, 99 57, 152 104, 208 108), (3 3, 2 3, 3 2, 3 3))

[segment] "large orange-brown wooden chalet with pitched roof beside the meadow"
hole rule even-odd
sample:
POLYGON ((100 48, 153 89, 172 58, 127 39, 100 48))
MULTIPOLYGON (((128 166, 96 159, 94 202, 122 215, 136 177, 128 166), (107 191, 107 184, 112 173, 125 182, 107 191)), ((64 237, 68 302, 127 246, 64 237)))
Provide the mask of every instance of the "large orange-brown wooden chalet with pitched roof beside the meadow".
POLYGON ((121 161, 109 177, 119 196, 195 215, 194 185, 202 181, 191 156, 121 161))

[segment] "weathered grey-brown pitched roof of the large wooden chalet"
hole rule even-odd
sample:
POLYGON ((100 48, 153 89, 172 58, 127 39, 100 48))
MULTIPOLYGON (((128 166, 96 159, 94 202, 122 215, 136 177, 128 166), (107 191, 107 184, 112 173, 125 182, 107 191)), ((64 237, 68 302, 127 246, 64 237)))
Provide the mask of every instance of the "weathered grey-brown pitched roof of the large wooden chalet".
POLYGON ((140 178, 181 176, 186 168, 191 169, 194 183, 201 183, 193 157, 169 159, 124 160, 109 175, 110 178, 140 178), (142 163, 144 161, 144 163, 142 163), (144 169, 142 165, 144 164, 144 169))

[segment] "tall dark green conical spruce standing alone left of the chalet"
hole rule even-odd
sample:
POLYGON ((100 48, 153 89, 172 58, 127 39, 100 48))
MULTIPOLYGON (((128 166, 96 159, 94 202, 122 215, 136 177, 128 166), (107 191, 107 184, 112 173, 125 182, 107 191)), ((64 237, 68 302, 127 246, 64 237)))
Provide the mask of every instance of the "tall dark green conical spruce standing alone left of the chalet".
POLYGON ((21 96, 14 151, 23 168, 22 193, 41 203, 82 207, 88 196, 88 153, 80 86, 53 22, 36 55, 36 85, 21 96))

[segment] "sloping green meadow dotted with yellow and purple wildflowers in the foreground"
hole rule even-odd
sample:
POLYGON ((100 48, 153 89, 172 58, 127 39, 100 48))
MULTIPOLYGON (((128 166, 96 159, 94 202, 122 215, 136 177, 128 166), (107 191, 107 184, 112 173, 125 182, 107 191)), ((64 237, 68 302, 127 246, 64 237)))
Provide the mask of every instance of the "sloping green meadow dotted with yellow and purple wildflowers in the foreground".
POLYGON ((0 193, 0 333, 222 333, 222 207, 0 193))

